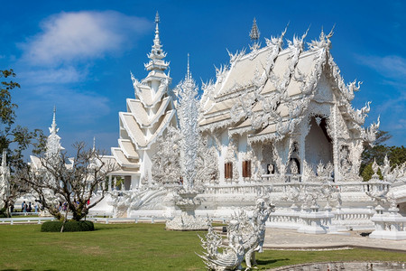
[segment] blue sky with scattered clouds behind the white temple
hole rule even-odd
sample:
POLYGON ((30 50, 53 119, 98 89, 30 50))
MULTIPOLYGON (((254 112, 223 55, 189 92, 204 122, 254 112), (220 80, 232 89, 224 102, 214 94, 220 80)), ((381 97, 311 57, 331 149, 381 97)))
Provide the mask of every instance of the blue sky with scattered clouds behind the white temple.
POLYGON ((190 53, 195 79, 215 78, 231 52, 248 47, 256 17, 261 40, 279 35, 306 41, 336 24, 332 54, 346 82, 362 88, 354 107, 372 101, 366 123, 381 115, 388 145, 406 145, 406 5, 403 1, 5 1, 0 10, 0 70, 14 69, 17 122, 48 135, 57 107, 62 145, 75 141, 109 150, 116 146, 118 112, 134 98, 151 50, 158 10, 172 87, 186 72, 190 53), (283 2, 283 3, 282 3, 283 2))

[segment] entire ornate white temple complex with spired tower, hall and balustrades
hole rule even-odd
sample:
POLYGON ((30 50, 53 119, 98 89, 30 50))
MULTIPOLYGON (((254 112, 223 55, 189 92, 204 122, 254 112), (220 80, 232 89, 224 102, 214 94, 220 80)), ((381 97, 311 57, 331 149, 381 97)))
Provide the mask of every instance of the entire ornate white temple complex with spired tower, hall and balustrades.
MULTIPOLYGON (((261 47, 254 21, 250 51, 229 52, 229 63, 203 84, 195 116, 176 101, 180 93, 195 93, 190 100, 197 93, 189 61, 185 80, 169 89, 159 22, 157 14, 144 65, 149 73, 141 81, 131 75, 135 98, 127 98, 127 112, 119 113, 118 147, 106 157, 120 169, 111 173, 106 200, 90 212, 173 217, 185 204, 183 187, 197 194, 189 202, 197 216, 226 218, 269 197, 276 206, 269 227, 326 233, 381 225, 381 231, 402 232, 389 236, 406 238, 405 166, 391 168, 386 159, 381 167, 374 164, 371 181, 362 182, 361 154, 374 142, 379 119, 365 128, 370 103, 352 107, 360 83, 342 78, 330 52, 332 32, 309 43, 304 33, 283 46, 285 29, 261 47), (189 132, 198 126, 199 135, 186 136, 188 126, 189 132), (185 173, 190 159, 198 168, 193 174, 185 173), (187 182, 190 176, 194 183, 187 182), (119 192, 118 177, 124 180, 119 192)), ((381 231, 375 238, 384 236, 381 231)))

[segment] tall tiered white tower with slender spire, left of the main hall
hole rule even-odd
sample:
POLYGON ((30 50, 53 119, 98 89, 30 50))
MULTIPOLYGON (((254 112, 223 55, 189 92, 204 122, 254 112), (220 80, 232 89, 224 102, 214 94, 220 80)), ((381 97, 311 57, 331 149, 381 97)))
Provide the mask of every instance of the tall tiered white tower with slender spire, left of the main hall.
POLYGON ((127 112, 119 113, 120 138, 118 147, 111 149, 121 170, 115 175, 125 177, 125 188, 141 187, 152 182, 152 156, 156 153, 156 140, 171 124, 176 126, 173 101, 168 86, 171 77, 165 73, 169 62, 163 59, 158 24, 155 17, 155 38, 148 54, 150 61, 144 64, 148 76, 141 81, 134 78, 135 98, 127 98, 127 112))

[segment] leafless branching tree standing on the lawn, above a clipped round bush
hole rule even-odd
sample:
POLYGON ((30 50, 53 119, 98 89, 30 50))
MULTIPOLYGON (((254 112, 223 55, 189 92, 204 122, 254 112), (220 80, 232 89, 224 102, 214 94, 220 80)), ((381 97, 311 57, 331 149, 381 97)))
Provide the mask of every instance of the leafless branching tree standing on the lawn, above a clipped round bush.
POLYGON ((76 150, 74 157, 69 158, 66 152, 42 154, 40 169, 26 166, 19 173, 19 178, 38 194, 42 206, 64 221, 68 212, 73 220, 83 219, 89 209, 102 201, 107 190, 107 174, 116 169, 104 152, 87 149, 83 142, 73 147, 76 150), (88 204, 97 191, 100 191, 100 197, 88 204), (60 208, 64 203, 67 204, 65 213, 60 208))

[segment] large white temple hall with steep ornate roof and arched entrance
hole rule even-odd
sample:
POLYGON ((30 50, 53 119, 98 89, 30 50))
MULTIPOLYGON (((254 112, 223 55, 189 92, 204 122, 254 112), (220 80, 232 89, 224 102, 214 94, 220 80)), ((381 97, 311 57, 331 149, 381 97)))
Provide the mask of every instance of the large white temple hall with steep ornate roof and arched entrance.
MULTIPOLYGON (((254 23, 257 38, 255 30, 254 23)), ((370 103, 351 106, 360 83, 341 77, 329 51, 332 33, 321 33, 309 50, 307 33, 283 48, 285 33, 263 48, 254 40, 251 51, 230 53, 204 86, 199 126, 217 149, 217 181, 289 181, 292 174, 305 181, 318 164, 331 167, 335 181, 359 181, 363 144, 374 142, 379 120, 364 129, 370 103)))

